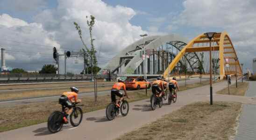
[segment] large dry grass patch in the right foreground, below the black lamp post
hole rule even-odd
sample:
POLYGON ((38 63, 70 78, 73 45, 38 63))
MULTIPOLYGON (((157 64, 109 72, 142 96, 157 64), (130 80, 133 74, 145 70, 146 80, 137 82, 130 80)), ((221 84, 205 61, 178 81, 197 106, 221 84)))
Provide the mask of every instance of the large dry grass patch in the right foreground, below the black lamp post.
POLYGON ((197 102, 164 115, 117 140, 228 140, 235 135, 241 103, 197 102))

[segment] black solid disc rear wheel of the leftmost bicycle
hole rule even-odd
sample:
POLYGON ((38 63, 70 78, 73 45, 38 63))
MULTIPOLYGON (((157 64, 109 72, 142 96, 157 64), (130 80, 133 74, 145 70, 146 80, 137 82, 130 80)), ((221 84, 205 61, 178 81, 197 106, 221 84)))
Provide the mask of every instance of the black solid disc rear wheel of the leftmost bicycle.
POLYGON ((57 133, 61 130, 64 123, 63 117, 64 117, 63 112, 55 111, 51 113, 47 122, 48 130, 51 133, 57 133))

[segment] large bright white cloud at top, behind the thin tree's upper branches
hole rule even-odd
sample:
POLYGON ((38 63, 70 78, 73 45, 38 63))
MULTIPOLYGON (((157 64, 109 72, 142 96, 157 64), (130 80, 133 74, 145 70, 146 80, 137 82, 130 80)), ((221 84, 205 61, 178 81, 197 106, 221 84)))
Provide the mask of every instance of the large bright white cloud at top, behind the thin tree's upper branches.
POLYGON ((73 22, 80 25, 86 45, 90 46, 86 16, 95 16, 93 38, 96 39, 96 49, 100 51, 98 58, 100 65, 107 63, 121 49, 141 39, 139 35, 147 33, 141 27, 130 23, 130 19, 136 14, 132 8, 119 5, 112 7, 101 0, 58 0, 58 2, 56 9, 44 10, 36 15, 35 21, 42 23, 45 30, 56 33, 56 40, 61 46, 78 50, 83 46, 73 22))

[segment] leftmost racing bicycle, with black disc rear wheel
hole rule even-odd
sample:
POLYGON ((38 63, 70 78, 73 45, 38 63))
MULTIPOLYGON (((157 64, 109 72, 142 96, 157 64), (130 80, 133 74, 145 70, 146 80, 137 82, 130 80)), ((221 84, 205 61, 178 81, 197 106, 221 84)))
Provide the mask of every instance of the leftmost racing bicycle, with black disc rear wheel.
MULTIPOLYGON (((78 106, 83 106, 83 105, 77 105, 78 103, 72 103, 73 106, 73 111, 70 114, 70 123, 72 126, 76 127, 79 126, 79 124, 82 122, 83 119, 83 111, 80 107, 78 106)), ((63 124, 64 124, 64 116, 66 116, 66 113, 64 111, 65 105, 62 105, 62 112, 60 111, 55 111, 52 112, 48 118, 48 123, 47 127, 48 130, 51 133, 57 133, 61 130, 63 124)))

